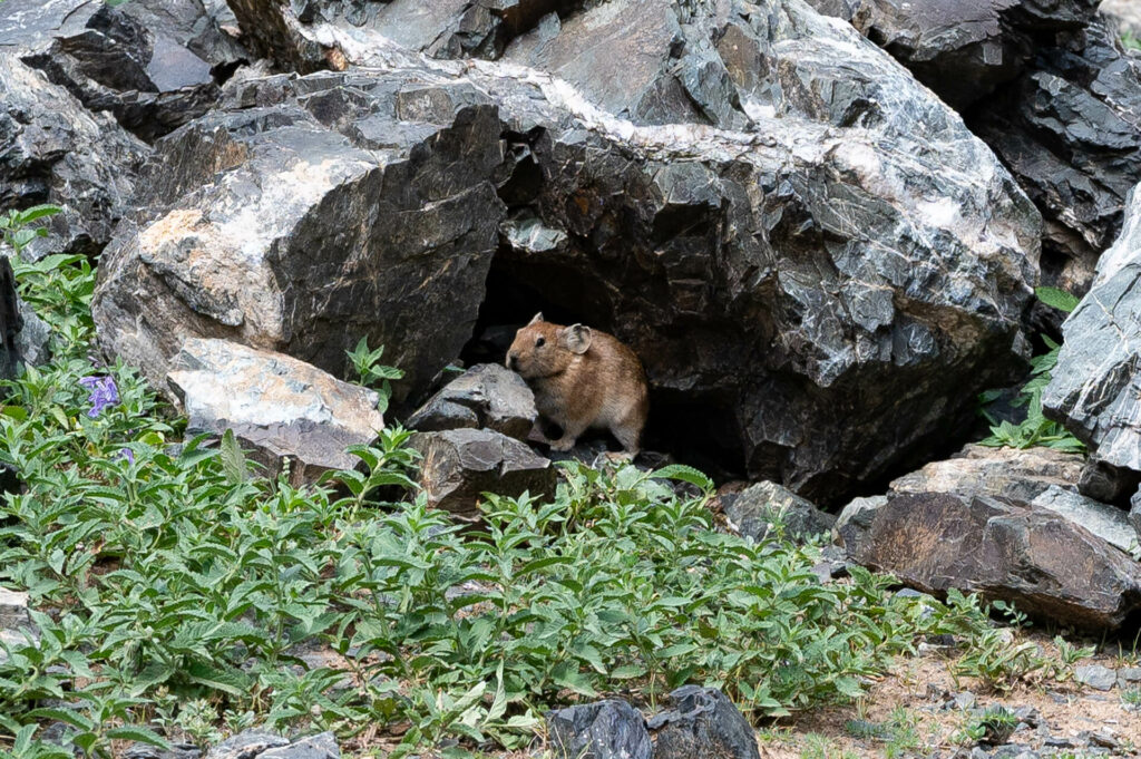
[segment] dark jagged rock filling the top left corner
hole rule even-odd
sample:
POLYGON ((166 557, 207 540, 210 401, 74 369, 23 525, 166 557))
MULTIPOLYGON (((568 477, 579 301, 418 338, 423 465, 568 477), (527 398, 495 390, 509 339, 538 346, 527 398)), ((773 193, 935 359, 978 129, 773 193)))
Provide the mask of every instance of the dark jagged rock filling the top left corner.
POLYGON ((199 116, 217 100, 211 62, 187 45, 236 65, 236 43, 201 0, 7 0, 0 51, 47 73, 91 111, 110 111, 138 137, 153 140, 199 116))

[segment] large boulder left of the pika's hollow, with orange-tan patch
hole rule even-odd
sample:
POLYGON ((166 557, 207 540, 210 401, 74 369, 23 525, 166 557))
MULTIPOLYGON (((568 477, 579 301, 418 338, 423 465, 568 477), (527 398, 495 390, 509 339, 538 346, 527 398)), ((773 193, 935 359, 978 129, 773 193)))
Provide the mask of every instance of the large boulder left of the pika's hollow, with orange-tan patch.
POLYGON ((422 394, 471 333, 496 244, 495 108, 414 75, 276 76, 162 140, 99 267, 112 353, 162 377, 186 336, 343 374, 362 336, 422 394))

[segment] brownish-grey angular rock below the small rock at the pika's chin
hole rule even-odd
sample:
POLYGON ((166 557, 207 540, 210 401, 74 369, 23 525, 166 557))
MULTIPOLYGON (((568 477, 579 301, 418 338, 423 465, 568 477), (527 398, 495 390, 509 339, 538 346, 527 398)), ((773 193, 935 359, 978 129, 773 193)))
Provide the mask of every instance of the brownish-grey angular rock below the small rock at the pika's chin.
POLYGON ((420 485, 428 504, 463 518, 479 516, 485 492, 515 496, 555 493, 556 471, 527 445, 489 429, 416 433, 410 445, 420 451, 420 485))

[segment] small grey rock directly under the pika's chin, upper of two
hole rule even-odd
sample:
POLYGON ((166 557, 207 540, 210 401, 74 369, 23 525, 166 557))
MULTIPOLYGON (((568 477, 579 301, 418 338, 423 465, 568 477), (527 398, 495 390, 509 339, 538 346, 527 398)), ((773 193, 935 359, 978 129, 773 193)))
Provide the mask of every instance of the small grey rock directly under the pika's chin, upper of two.
POLYGON ((405 426, 423 433, 486 427, 525 441, 535 425, 535 395, 518 374, 478 364, 448 382, 405 426))

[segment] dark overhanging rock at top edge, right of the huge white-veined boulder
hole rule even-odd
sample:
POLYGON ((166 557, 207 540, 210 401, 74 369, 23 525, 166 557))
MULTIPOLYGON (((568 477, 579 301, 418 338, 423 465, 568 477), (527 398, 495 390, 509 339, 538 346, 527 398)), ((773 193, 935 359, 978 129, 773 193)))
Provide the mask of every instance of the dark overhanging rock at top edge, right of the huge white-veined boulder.
POLYGON ((907 66, 956 110, 1017 78, 1037 38, 1081 30, 1098 0, 809 0, 907 66))

